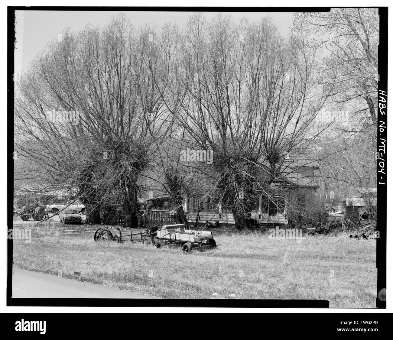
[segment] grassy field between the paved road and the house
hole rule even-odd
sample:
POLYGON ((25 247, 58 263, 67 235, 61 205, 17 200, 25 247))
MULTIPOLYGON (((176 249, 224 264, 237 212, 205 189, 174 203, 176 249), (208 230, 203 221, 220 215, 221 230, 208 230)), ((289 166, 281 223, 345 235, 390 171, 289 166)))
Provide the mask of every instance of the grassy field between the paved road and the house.
POLYGON ((95 243, 93 234, 14 241, 14 266, 162 298, 320 299, 330 307, 375 307, 376 242, 346 235, 214 231, 217 250, 184 255, 178 247, 95 243), (74 275, 74 272, 80 275, 74 275), (212 296, 213 293, 217 295, 212 296))

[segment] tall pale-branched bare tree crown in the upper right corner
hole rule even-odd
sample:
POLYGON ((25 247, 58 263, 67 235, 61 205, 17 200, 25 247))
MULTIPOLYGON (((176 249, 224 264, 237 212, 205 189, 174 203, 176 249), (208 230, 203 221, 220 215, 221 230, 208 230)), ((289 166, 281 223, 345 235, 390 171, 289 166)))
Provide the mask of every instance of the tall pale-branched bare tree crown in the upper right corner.
POLYGON ((333 8, 330 12, 295 13, 294 27, 313 37, 310 47, 325 46, 321 72, 339 104, 362 100, 355 112, 375 125, 378 91, 379 15, 375 8, 333 8))

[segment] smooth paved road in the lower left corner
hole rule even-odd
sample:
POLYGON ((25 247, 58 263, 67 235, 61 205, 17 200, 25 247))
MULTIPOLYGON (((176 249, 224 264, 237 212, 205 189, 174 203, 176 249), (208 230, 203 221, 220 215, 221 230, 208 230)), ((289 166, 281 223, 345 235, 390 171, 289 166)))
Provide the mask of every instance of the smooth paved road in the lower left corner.
POLYGON ((55 275, 13 268, 13 298, 124 298, 153 299, 151 296, 113 287, 59 278, 55 275))

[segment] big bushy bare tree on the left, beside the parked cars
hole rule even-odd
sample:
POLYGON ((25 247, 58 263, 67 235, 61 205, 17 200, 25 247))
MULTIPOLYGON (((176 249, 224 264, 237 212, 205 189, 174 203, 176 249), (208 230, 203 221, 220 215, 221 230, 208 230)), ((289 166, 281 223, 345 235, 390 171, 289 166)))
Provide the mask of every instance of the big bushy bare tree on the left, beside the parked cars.
POLYGON ((161 104, 154 65, 145 64, 156 62, 148 30, 136 31, 124 15, 104 29, 65 30, 18 84, 17 151, 47 170, 52 188, 83 197, 88 223, 100 222, 111 202, 122 207, 127 226, 141 224, 138 181, 156 152, 151 135, 165 135, 160 124, 151 129, 161 104), (78 119, 64 122, 65 112, 78 119))

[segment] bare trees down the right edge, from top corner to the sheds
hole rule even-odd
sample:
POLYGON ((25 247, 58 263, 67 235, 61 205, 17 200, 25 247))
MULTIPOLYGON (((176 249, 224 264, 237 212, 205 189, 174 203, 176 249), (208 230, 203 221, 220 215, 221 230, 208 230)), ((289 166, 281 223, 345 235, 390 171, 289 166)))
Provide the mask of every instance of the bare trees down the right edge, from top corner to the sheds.
POLYGON ((294 28, 323 47, 323 84, 333 85, 332 110, 346 110, 349 121, 330 130, 323 147, 321 186, 341 197, 376 187, 376 107, 378 100, 378 9, 336 8, 296 13, 294 28))

